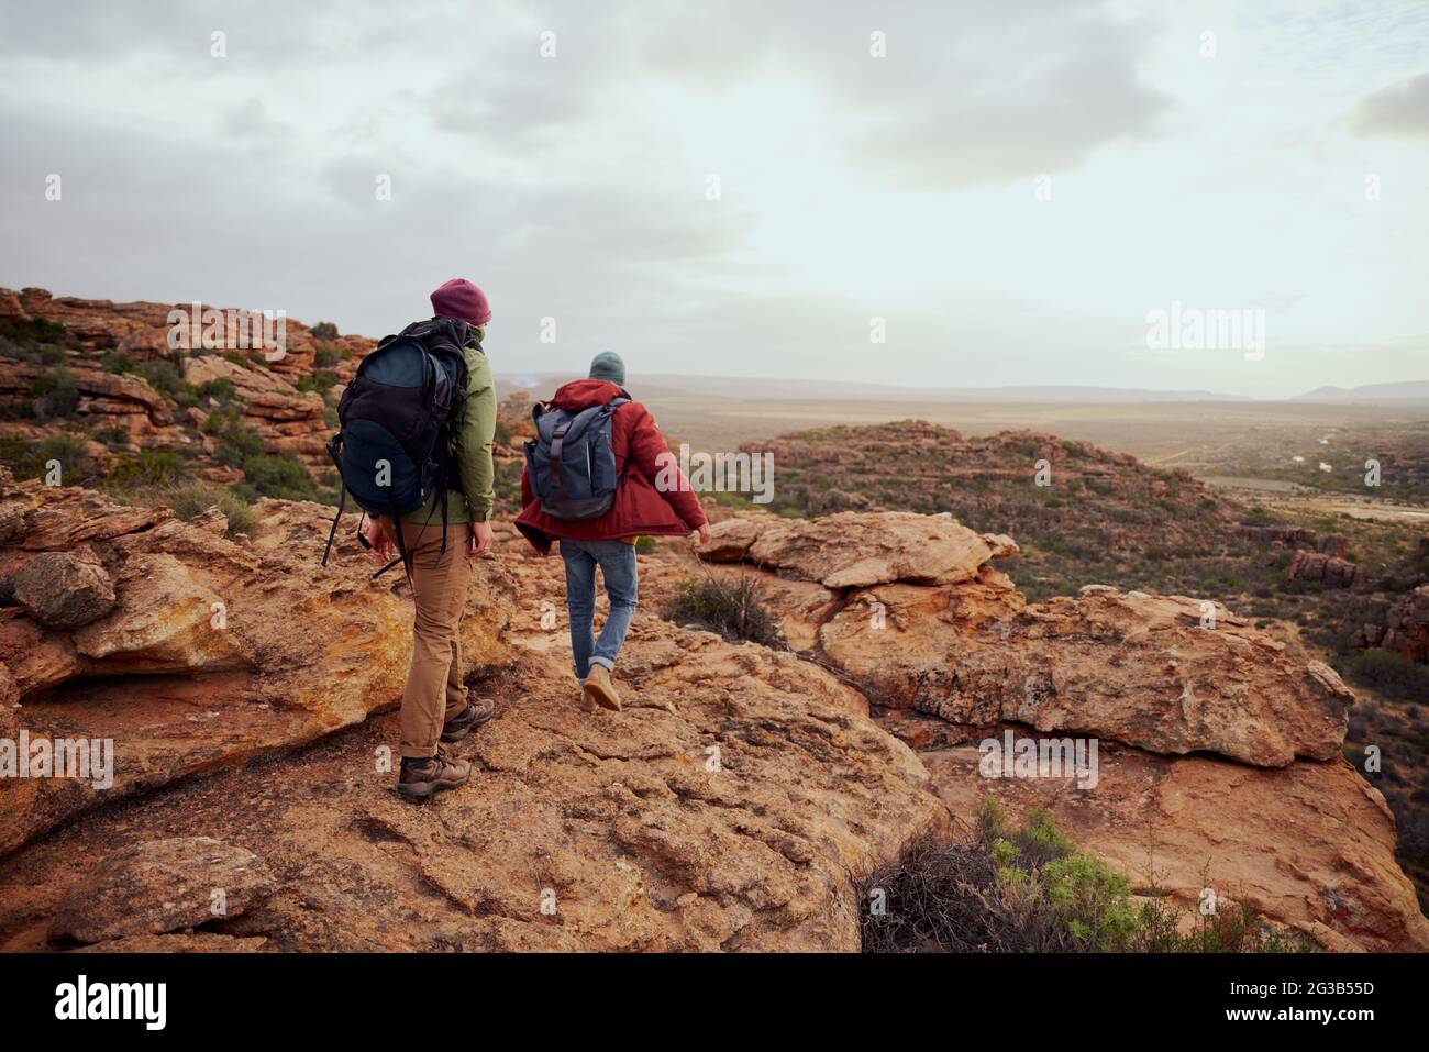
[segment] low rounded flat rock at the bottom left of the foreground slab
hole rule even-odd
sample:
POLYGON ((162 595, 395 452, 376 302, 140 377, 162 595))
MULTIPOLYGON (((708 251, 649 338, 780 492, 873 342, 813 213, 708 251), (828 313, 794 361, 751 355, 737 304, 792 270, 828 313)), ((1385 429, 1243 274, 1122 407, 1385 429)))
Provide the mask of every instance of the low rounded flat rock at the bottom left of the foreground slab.
POLYGON ((272 873, 250 850, 210 836, 149 840, 114 852, 77 885, 50 938, 91 943, 161 935, 237 916, 272 890, 272 873))

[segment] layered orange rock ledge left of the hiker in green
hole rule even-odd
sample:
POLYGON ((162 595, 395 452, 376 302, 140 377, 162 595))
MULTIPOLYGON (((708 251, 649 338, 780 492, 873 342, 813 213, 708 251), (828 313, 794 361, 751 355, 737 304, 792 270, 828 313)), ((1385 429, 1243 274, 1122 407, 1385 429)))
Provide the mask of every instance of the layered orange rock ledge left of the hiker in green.
MULTIPOLYGON (((21 515, 0 576, 23 579, 36 559, 56 557, 34 549, 84 543, 116 596, 74 630, 0 609, 0 680, 30 735, 111 739, 114 749, 103 792, 80 780, 0 782, 0 853, 109 799, 312 742, 400 690, 407 600, 356 557, 317 566, 326 507, 260 502, 259 537, 236 543, 217 510, 179 522, 39 482, 4 482, 0 506, 21 515), (136 688, 134 676, 160 679, 136 688)), ((477 590, 472 660, 509 660, 496 642, 502 623, 494 593, 477 590)))

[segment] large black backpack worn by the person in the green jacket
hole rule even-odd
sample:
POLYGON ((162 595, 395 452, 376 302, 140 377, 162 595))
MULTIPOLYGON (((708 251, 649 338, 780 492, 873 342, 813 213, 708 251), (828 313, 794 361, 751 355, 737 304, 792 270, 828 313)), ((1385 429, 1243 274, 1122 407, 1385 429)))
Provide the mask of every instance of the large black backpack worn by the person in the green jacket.
MULTIPOLYGON (((442 506, 439 557, 446 555, 447 495, 456 477, 453 425, 462 419, 467 396, 466 339, 464 322, 433 317, 384 336, 357 366, 337 403, 340 430, 327 443, 342 496, 323 566, 349 493, 367 515, 392 516, 396 523, 399 556, 377 573, 407 563, 402 516, 420 509, 433 490, 442 506)), ((369 546, 360 523, 357 539, 369 546)))

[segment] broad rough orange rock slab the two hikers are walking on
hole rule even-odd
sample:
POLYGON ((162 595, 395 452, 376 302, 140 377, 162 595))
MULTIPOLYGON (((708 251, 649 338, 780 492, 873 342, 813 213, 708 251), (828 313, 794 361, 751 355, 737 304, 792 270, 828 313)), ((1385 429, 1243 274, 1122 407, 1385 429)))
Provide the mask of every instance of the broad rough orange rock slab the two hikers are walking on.
MULTIPOLYGON (((279 523, 294 506, 264 512, 279 523)), ((856 949, 856 879, 946 823, 922 765, 857 692, 793 655, 642 612, 619 672, 626 710, 593 719, 576 703, 566 633, 543 627, 536 602, 559 563, 502 572, 523 599, 503 645, 522 658, 480 685, 502 708, 454 746, 477 760, 466 789, 430 808, 397 799, 373 763, 396 742, 383 715, 302 763, 146 798, 123 828, 263 843, 283 875, 274 893, 211 926, 264 949, 856 949)), ((410 622, 394 629, 410 635, 410 622)), ((354 656, 372 643, 360 627, 342 640, 354 656)), ((304 675, 313 689, 342 679, 304 675)), ((14 888, 0 946, 60 909, 81 878, 74 859, 116 835, 111 815, 0 862, 14 888)))

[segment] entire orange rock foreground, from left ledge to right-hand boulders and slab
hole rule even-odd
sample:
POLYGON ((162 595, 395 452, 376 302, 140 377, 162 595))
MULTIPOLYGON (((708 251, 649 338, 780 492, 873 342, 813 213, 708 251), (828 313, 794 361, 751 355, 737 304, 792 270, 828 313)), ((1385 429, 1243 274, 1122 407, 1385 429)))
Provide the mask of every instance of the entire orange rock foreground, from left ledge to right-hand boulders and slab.
POLYGON ((472 785, 404 803, 406 585, 350 535, 320 569, 326 512, 264 500, 226 539, 216 510, 0 475, 0 739, 114 750, 104 788, 0 780, 0 946, 856 949, 857 880, 992 793, 1179 899, 1212 880, 1328 948, 1429 948, 1332 672, 1176 597, 1027 605, 990 566, 1010 539, 936 516, 757 516, 703 570, 642 556, 629 703, 600 718, 559 560, 503 535, 463 636, 500 712, 457 746, 472 785), (803 653, 662 620, 702 572, 757 575, 803 653), (985 778, 1003 729, 1099 738, 1096 786, 985 778))

